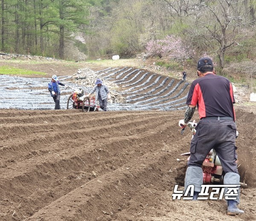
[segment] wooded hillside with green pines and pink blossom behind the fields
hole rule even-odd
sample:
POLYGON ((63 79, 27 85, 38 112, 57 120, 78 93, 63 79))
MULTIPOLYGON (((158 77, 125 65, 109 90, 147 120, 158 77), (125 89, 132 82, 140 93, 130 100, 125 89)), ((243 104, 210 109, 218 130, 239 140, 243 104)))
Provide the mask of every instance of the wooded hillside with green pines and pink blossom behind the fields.
POLYGON ((255 92, 255 11, 256 0, 1 0, 0 48, 75 61, 154 57, 176 71, 208 56, 255 92))

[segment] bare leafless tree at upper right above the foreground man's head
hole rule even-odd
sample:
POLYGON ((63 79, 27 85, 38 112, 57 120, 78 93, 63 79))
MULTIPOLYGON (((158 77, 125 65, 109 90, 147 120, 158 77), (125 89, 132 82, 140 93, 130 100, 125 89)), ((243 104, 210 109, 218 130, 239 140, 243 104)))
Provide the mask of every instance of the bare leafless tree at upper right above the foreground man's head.
POLYGON ((205 43, 218 42, 216 49, 221 68, 224 67, 224 54, 231 45, 239 45, 244 39, 241 28, 252 23, 252 19, 244 20, 243 0, 205 1, 198 4, 196 22, 203 31, 201 39, 205 43))

